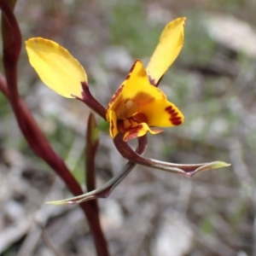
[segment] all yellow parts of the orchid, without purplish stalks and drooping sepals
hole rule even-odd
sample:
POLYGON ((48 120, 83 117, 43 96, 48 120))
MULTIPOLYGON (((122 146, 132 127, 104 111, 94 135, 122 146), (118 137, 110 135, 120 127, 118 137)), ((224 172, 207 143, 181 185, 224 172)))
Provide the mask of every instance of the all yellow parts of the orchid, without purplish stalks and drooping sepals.
MULTIPOLYGON (((183 123, 183 114, 167 101, 157 85, 182 49, 184 23, 185 18, 178 18, 167 24, 148 67, 143 67, 142 61, 135 61, 114 93, 106 112, 112 138, 121 132, 124 141, 128 141, 142 137, 147 131, 151 134, 162 131, 153 127, 183 123)), ((61 96, 83 100, 87 75, 67 49, 48 39, 30 38, 26 41, 26 51, 44 84, 61 96)))

